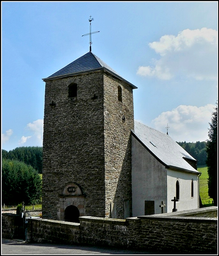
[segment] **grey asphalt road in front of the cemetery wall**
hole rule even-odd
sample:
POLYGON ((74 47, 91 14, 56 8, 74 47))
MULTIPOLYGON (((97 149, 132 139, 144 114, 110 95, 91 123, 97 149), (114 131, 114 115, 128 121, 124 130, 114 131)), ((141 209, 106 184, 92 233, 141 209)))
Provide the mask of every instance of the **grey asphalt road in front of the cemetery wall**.
POLYGON ((17 239, 10 240, 2 238, 1 255, 45 255, 45 254, 157 254, 155 252, 145 252, 126 249, 113 249, 97 246, 65 245, 65 244, 28 244, 17 239))

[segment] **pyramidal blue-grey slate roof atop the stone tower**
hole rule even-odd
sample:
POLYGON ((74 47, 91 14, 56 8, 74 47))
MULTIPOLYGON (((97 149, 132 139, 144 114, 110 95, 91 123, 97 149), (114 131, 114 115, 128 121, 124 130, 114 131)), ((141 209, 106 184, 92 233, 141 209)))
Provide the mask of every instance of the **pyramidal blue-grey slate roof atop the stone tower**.
POLYGON ((133 89, 137 88, 135 85, 129 83, 127 80, 122 78, 115 70, 109 67, 105 62, 103 62, 100 58, 98 58, 92 52, 85 53, 83 56, 79 57, 77 60, 74 60, 64 68, 61 68, 51 76, 48 76, 47 78, 43 78, 42 80, 47 81, 54 78, 60 78, 63 76, 70 76, 70 75, 75 75, 79 73, 95 71, 99 69, 104 69, 107 72, 111 73, 112 75, 120 78, 121 80, 131 85, 133 89))

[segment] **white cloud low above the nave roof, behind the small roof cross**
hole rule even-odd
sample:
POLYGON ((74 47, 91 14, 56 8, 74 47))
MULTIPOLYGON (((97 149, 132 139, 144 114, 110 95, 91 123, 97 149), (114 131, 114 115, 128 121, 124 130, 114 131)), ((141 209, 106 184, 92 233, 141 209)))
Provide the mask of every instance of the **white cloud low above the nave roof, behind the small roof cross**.
POLYGON ((153 128, 166 132, 176 141, 196 142, 208 139, 209 122, 215 106, 207 104, 204 107, 180 105, 171 111, 163 112, 152 120, 153 128))

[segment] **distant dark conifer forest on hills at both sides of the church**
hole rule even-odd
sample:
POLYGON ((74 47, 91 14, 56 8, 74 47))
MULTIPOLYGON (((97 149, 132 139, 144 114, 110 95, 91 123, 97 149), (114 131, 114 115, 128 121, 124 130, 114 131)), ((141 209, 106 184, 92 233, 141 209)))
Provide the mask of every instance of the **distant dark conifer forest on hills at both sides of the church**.
MULTIPOLYGON (((197 167, 206 166, 207 152, 205 141, 177 143, 198 160, 197 167)), ((31 165, 38 173, 42 173, 42 147, 18 147, 9 151, 2 149, 2 159, 23 162, 31 165)))

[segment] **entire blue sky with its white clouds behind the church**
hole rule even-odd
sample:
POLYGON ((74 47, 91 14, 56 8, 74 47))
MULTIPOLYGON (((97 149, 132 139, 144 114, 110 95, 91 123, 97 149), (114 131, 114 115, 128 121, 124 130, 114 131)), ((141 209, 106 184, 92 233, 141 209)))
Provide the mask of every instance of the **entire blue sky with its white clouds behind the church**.
POLYGON ((134 118, 208 139, 217 102, 217 1, 1 2, 2 148, 42 146, 45 83, 92 52, 133 90, 134 118))

